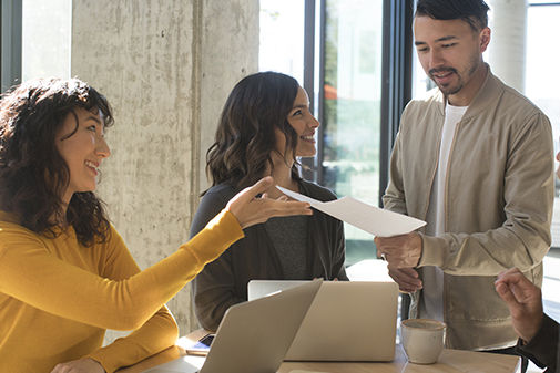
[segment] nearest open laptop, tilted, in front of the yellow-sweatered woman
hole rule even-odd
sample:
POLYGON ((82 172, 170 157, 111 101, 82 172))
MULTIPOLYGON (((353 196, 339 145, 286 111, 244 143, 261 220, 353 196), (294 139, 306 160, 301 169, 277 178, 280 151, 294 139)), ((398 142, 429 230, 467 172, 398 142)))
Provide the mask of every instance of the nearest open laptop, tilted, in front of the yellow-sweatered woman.
POLYGON ((320 288, 320 280, 231 307, 202 367, 185 358, 152 367, 151 373, 274 373, 320 288))

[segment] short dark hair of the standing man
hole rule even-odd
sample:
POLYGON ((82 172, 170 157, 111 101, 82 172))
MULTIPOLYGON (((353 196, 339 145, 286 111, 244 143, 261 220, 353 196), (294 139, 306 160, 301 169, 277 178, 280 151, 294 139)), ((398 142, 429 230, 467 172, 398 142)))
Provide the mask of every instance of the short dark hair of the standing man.
POLYGON ((483 0, 418 0, 416 14, 435 20, 464 20, 472 30, 488 27, 488 4, 483 0))

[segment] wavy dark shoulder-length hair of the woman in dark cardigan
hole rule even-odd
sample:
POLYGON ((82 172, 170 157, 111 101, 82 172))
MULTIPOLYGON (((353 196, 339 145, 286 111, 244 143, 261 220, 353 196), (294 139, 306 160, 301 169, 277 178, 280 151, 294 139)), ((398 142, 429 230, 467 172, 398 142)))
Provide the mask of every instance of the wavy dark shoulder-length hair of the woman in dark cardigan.
MULTIPOLYGON (((275 128, 286 136, 284 154, 294 154, 297 133, 287 116, 294 106, 299 84, 292 76, 261 72, 242 79, 225 102, 214 144, 206 153, 206 174, 212 185, 228 183, 244 188, 274 167, 275 128)), ((295 160, 295 159, 294 159, 295 160)), ((296 162, 292 177, 301 179, 296 162)))

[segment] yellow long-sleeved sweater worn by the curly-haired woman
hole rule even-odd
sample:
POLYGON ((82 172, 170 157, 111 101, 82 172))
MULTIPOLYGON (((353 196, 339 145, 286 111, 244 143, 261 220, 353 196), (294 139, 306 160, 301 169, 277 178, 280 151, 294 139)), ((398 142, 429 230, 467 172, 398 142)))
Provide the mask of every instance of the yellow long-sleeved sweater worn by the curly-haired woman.
POLYGON ((51 239, 0 211, 0 372, 49 373, 84 356, 114 372, 169 348, 177 328, 163 304, 242 237, 222 211, 140 271, 113 228, 106 244, 86 248, 71 228, 51 239), (101 348, 105 329, 134 332, 101 348))

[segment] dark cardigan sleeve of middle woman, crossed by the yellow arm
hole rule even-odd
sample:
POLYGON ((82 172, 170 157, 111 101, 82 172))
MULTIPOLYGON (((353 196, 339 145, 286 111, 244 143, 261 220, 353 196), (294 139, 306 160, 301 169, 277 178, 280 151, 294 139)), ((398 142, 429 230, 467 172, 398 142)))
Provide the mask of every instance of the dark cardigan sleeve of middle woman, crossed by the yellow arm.
MULTIPOLYGON (((208 190, 202 198, 191 225, 191 237, 201 231, 235 195, 232 189, 208 190)), ((231 265, 231 250, 206 265, 192 282, 194 311, 201 325, 216 331, 225 311, 243 299, 235 296, 235 278, 231 265)))

